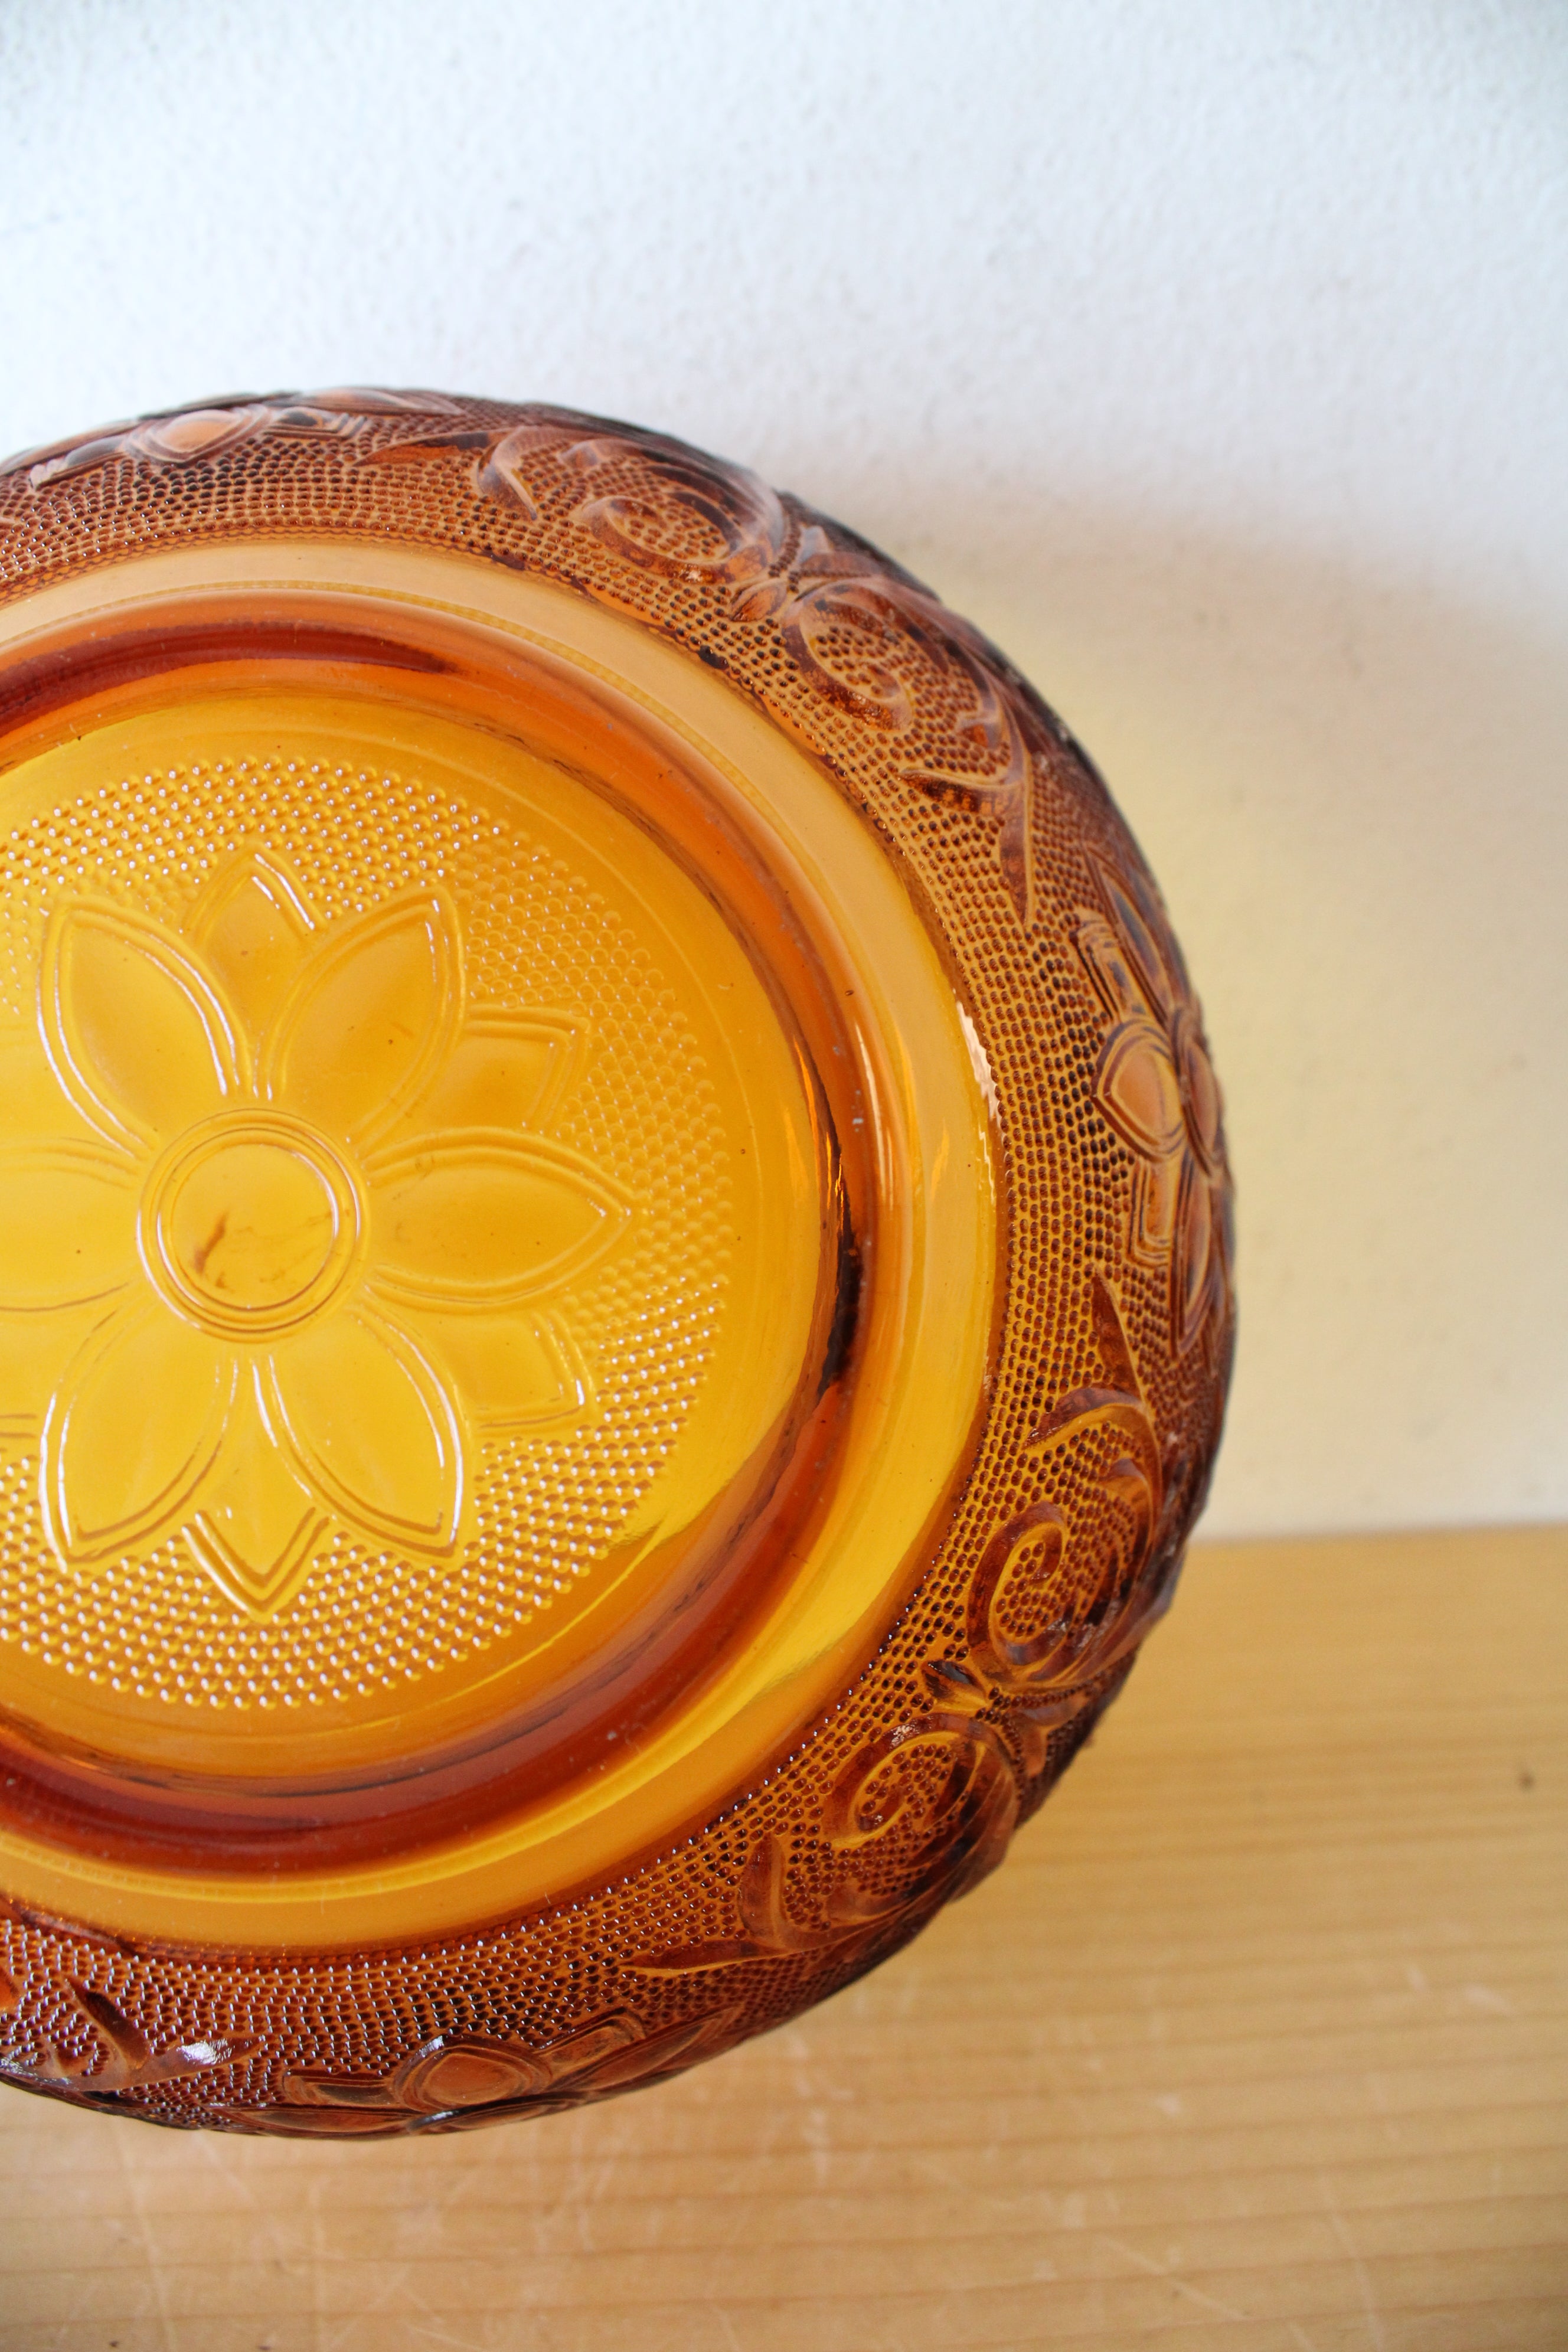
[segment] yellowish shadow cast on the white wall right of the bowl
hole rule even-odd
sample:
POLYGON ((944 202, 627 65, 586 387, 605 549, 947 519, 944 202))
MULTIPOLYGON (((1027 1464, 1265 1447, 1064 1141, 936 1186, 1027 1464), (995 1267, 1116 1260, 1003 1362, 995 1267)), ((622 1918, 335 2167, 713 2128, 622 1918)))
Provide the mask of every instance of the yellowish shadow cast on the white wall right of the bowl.
POLYGON ((1239 1176, 1208 1534, 1568 1517, 1568 614, 1067 503, 851 517, 1100 762, 1239 1176))

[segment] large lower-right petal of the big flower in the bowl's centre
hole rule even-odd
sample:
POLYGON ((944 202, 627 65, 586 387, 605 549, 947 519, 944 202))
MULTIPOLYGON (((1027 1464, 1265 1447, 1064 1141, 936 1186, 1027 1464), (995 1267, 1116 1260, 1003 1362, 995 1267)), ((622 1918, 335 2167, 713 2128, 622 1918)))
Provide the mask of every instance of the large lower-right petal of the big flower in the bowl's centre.
POLYGON ((440 1557, 463 1510, 447 1385, 397 1324, 357 1305, 263 1367, 268 1414, 315 1494, 371 1543, 440 1557))

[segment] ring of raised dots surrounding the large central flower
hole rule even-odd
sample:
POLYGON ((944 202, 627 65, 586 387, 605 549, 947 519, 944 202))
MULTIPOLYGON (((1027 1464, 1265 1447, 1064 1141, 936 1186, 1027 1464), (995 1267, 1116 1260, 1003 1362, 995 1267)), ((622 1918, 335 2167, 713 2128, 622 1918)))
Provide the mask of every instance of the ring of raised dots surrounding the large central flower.
POLYGON ((38 1461, 9 1451, 0 1661, 16 1644, 87 1684, 226 1712, 397 1693, 475 1649, 501 1663, 592 1573, 651 1486, 724 1310, 726 1145, 703 1058, 635 931, 517 833, 508 891, 496 894, 496 816, 421 776, 256 755, 115 776, 0 840, 0 1021, 19 1033, 35 1018, 45 924, 73 896, 122 901, 179 931, 240 844, 282 861, 322 924, 414 882, 440 884, 458 913, 470 1000, 576 1023, 581 1070, 550 1136, 621 1171, 639 1207, 630 1244, 564 1298, 592 1374, 590 1411, 569 1430, 482 1444, 475 1534, 440 1576, 327 1531, 294 1599, 256 1623, 179 1541, 66 1566, 42 1534, 38 1461), (646 1021, 649 1007, 661 1018, 646 1021))

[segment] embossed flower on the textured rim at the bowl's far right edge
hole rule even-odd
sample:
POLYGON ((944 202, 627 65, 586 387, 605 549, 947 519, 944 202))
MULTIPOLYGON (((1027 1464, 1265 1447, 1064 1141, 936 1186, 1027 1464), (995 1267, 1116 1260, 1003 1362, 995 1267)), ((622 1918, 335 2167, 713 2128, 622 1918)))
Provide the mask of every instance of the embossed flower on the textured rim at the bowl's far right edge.
POLYGON ((1171 1268, 1171 1338, 1192 1345, 1229 1296, 1229 1171, 1220 1087, 1180 948, 1154 891, 1098 866, 1110 908, 1081 915, 1079 955, 1112 1016, 1095 1103, 1138 1155, 1133 1254, 1171 1268))

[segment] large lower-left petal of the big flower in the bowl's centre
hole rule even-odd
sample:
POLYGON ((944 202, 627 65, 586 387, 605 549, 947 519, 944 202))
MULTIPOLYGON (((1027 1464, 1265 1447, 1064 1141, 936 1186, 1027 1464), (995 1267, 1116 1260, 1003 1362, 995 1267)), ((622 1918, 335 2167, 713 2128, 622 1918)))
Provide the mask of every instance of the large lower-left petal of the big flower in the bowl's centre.
POLYGON ((216 1461, 233 1357, 160 1305, 101 1322, 66 1367, 42 1430, 42 1512, 61 1559, 174 1534, 216 1461))

